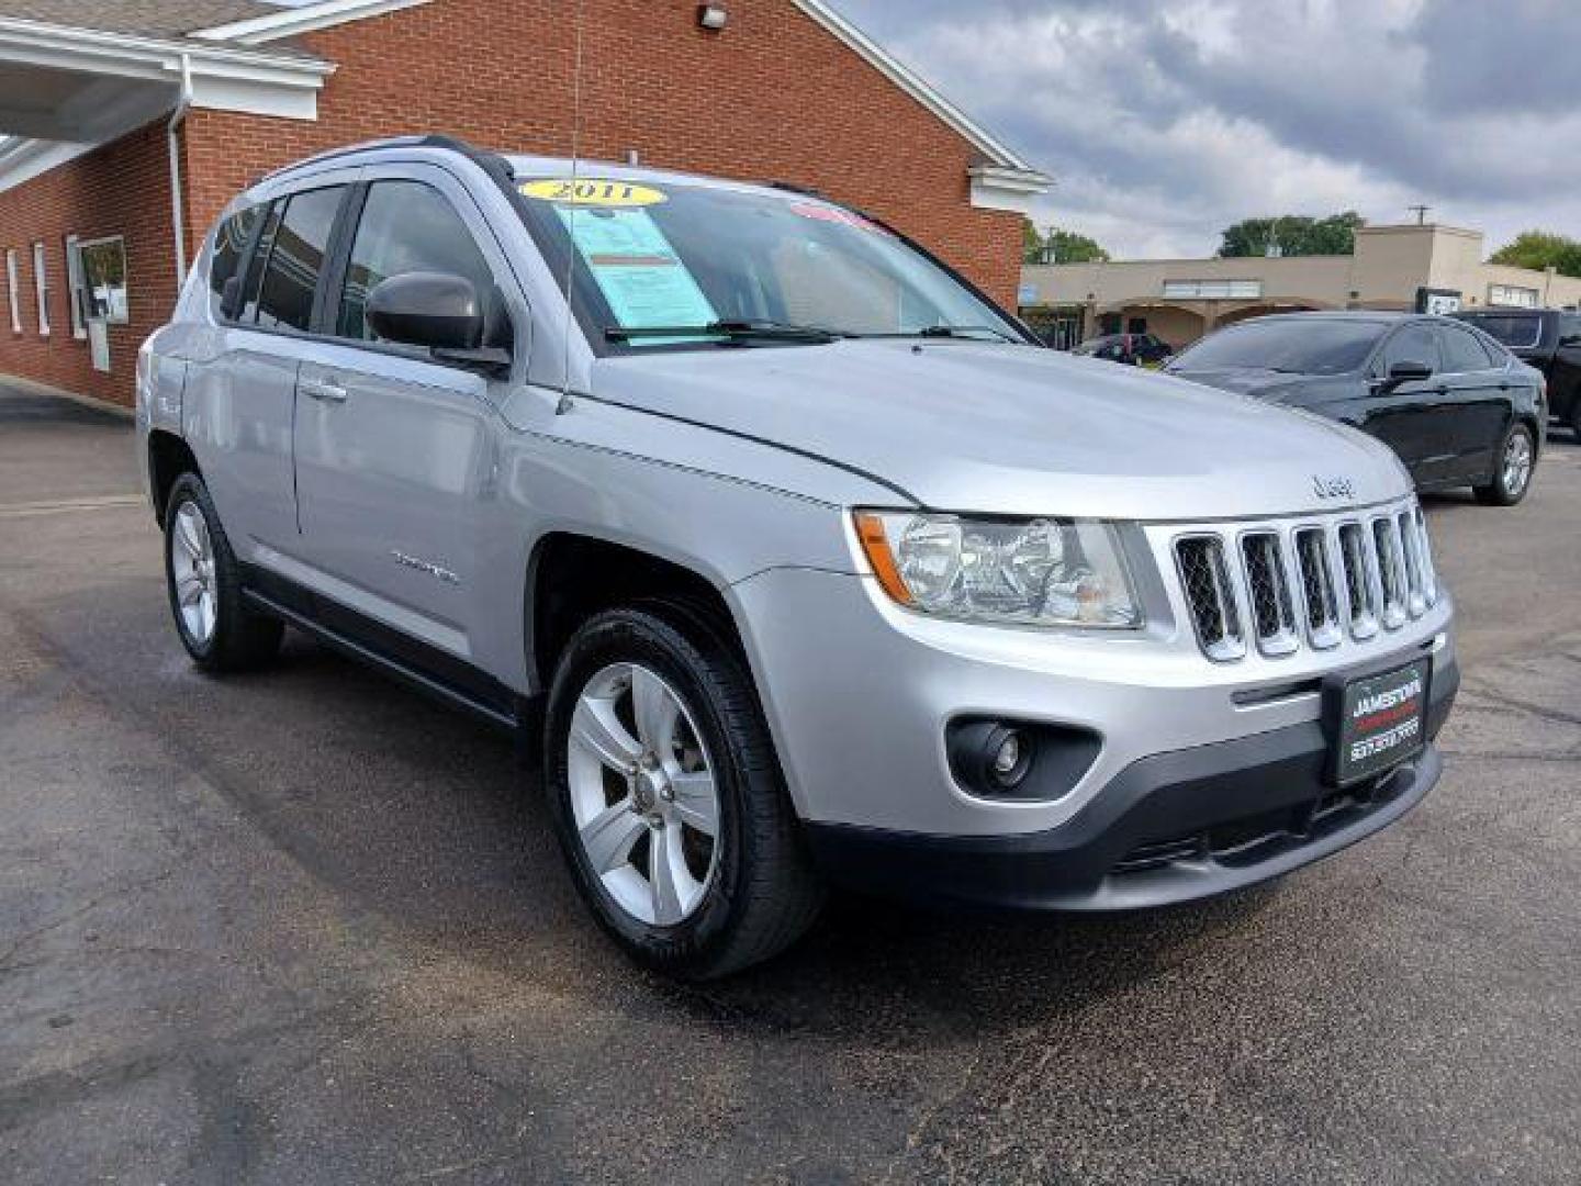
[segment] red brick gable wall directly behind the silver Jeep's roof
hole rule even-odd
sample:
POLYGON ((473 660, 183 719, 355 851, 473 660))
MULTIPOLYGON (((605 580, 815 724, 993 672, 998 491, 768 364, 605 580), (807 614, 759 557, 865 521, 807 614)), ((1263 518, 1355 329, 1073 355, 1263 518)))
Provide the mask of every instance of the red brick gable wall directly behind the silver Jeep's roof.
MULTIPOLYGON (((574 5, 435 0, 304 41, 338 63, 319 120, 199 111, 190 152, 201 236, 259 174, 373 136, 446 131, 571 153, 574 5)), ((1015 308, 1021 218, 971 209, 974 149, 790 0, 732 0, 721 33, 694 0, 587 5, 582 153, 811 185, 870 209, 1015 308)))

